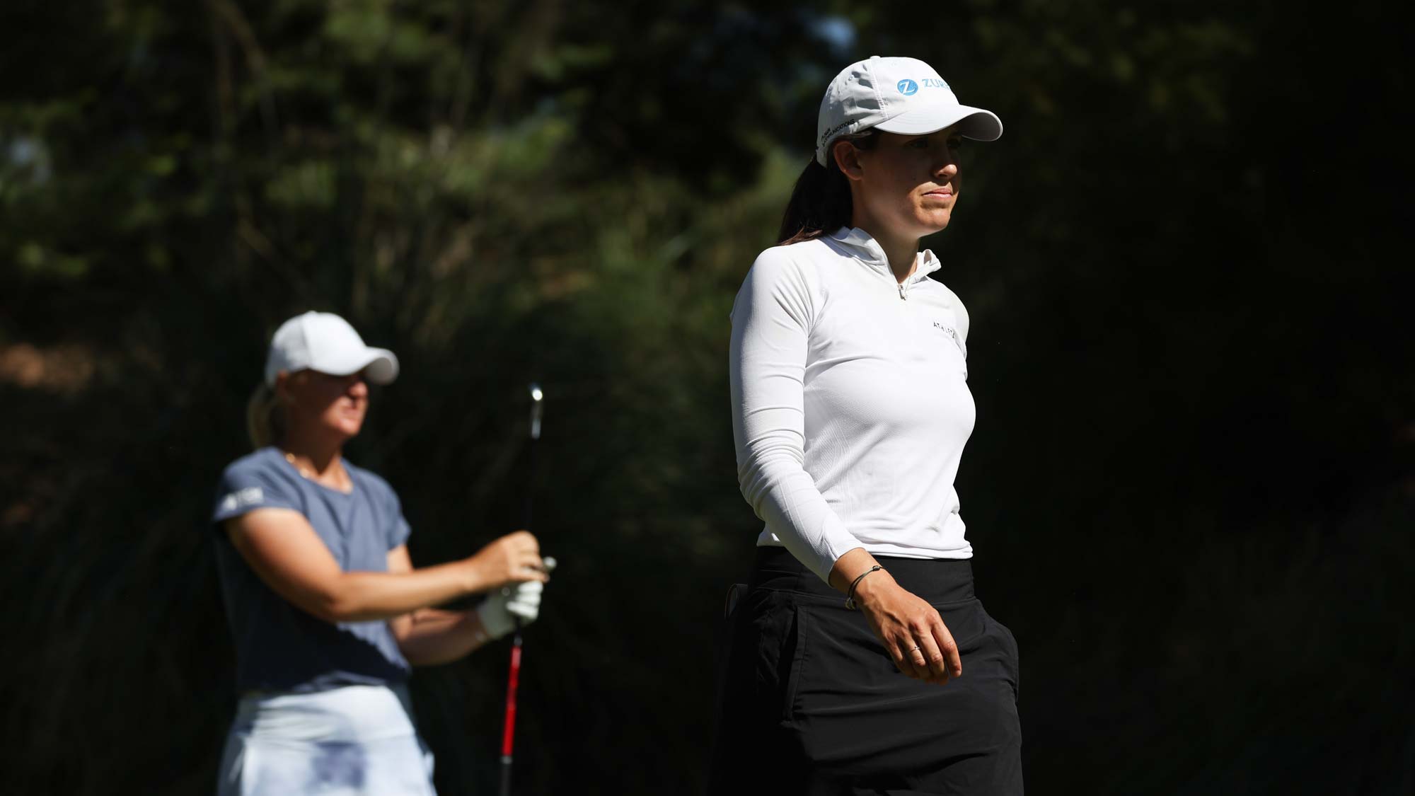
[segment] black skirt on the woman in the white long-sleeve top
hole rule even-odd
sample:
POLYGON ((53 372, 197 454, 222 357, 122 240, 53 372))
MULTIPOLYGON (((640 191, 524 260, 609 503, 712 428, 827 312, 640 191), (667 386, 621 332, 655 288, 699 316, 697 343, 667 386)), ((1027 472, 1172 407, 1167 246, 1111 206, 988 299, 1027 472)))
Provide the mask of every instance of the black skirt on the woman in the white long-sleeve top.
POLYGON ((784 548, 760 548, 720 674, 717 795, 1020 796, 1017 642, 968 561, 879 558, 962 653, 945 686, 894 669, 865 615, 784 548))

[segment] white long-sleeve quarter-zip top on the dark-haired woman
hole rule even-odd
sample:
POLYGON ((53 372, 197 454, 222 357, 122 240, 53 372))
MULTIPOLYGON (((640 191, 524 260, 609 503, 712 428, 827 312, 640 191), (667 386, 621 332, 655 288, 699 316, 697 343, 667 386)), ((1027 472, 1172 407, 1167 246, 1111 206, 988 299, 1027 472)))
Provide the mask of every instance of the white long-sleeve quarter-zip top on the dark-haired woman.
POLYGON ((903 283, 863 229, 761 252, 732 310, 741 494, 822 579, 863 547, 971 558, 954 479, 972 433, 968 312, 918 255, 903 283))

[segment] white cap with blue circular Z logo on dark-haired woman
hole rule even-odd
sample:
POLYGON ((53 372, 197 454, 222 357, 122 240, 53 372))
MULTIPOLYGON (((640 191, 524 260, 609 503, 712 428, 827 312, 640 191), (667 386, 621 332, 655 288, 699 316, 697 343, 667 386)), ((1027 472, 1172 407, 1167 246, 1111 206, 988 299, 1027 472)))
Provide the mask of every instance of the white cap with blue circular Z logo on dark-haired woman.
POLYGON ((1002 120, 992 110, 959 105, 928 64, 873 55, 841 69, 825 89, 815 126, 815 160, 825 166, 825 149, 832 140, 870 127, 921 136, 952 125, 968 139, 992 142, 1002 136, 1002 120))

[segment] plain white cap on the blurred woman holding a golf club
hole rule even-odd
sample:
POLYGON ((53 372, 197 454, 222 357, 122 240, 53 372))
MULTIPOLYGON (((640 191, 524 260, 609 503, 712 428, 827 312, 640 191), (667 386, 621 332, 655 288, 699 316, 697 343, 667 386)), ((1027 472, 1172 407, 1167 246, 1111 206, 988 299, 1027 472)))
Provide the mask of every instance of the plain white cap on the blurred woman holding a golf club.
POLYGON ((316 370, 348 375, 366 370, 374 384, 398 378, 398 357, 388 348, 369 348, 350 322, 334 313, 307 312, 280 324, 266 354, 266 384, 275 387, 280 371, 316 370))

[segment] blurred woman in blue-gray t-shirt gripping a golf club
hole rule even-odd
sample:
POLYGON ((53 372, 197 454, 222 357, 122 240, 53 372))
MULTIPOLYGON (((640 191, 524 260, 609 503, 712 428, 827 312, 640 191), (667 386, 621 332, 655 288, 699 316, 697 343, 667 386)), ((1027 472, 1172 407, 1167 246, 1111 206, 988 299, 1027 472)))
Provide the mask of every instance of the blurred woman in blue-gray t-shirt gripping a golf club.
POLYGON ((212 513, 241 694, 222 795, 433 793, 409 667, 536 618, 548 575, 535 537, 415 569, 398 494, 344 459, 368 384, 396 375, 393 353, 335 314, 290 319, 270 343, 248 412, 256 450, 226 467, 212 513), (484 592, 473 610, 432 608, 484 592))

